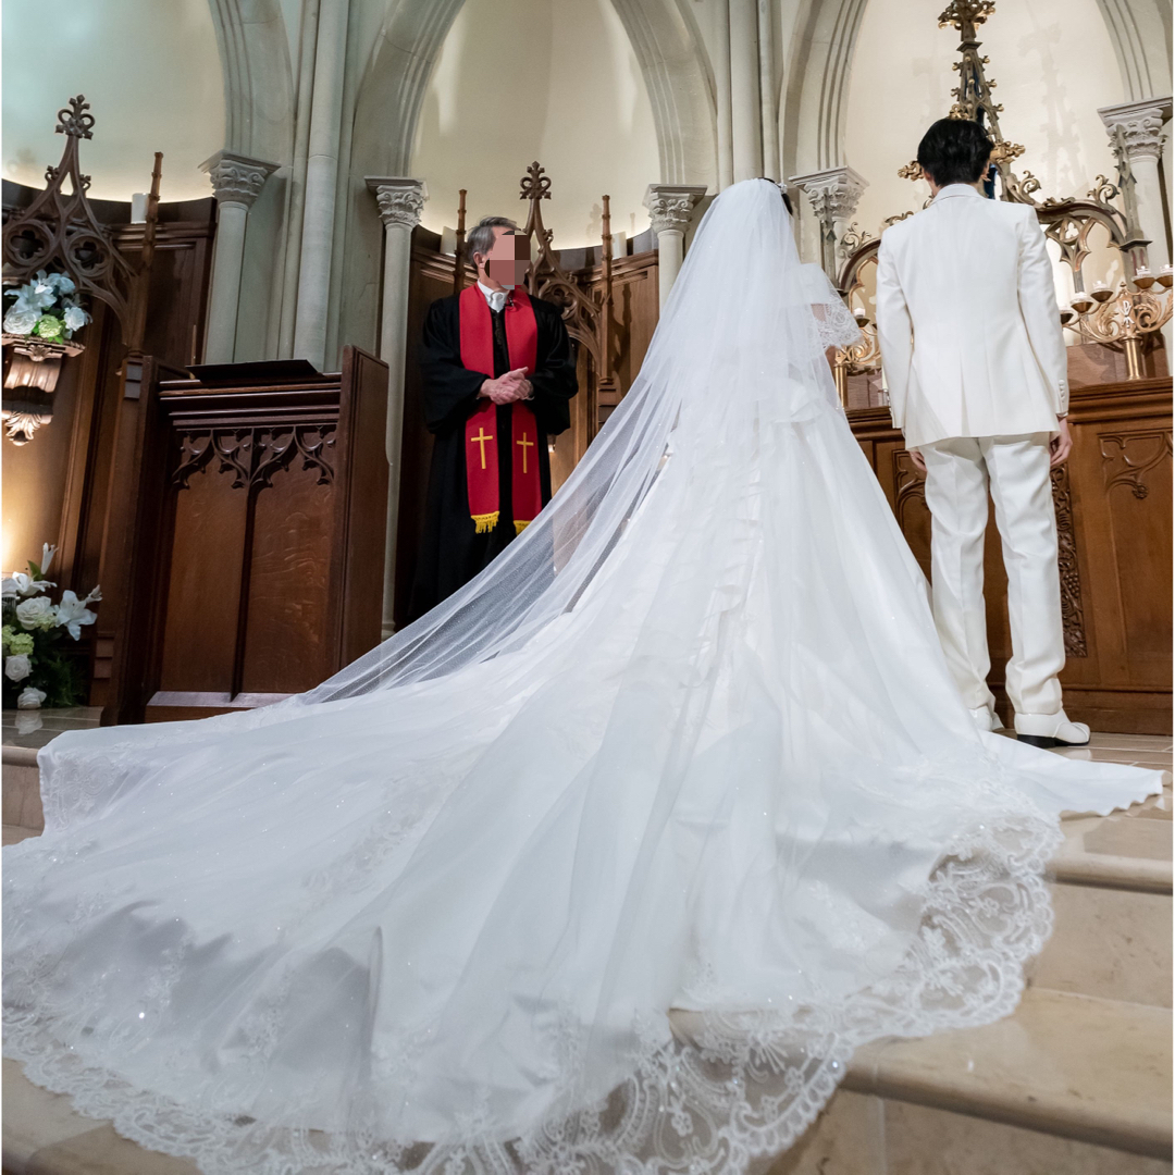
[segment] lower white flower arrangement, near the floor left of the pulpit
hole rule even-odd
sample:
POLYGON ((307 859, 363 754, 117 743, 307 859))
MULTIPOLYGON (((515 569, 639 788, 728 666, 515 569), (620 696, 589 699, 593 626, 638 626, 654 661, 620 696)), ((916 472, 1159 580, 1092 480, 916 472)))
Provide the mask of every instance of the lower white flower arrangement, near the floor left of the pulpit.
POLYGON ((75 659, 62 649, 66 636, 81 638, 83 625, 93 624, 98 613, 87 604, 102 598, 95 588, 82 599, 76 592, 63 591, 61 602, 54 604, 47 595, 55 588, 45 572, 53 563, 55 546, 42 548, 41 563, 29 563, 28 573, 6 576, 0 585, 4 627, 4 685, 5 705, 18 710, 36 710, 46 700, 51 705, 69 706, 80 700, 83 683, 75 659), (19 690, 19 692, 18 692, 19 690))

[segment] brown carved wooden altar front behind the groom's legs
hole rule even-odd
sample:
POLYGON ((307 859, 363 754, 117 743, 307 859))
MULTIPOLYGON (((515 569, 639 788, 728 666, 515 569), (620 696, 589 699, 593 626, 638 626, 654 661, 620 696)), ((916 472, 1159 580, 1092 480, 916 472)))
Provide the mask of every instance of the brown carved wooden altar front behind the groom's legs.
MULTIPOLYGON (((1171 392, 1168 380, 1074 389, 1073 455, 1053 471, 1066 710, 1096 730, 1168 733, 1171 699, 1171 392)), ((885 409, 851 410, 861 449, 919 563, 929 513, 885 409)), ((994 511, 993 511, 994 513, 994 511)), ((991 684, 1012 652, 1007 577, 994 517, 985 548, 991 684)), ((1007 717, 1007 714, 1005 714, 1007 717)))

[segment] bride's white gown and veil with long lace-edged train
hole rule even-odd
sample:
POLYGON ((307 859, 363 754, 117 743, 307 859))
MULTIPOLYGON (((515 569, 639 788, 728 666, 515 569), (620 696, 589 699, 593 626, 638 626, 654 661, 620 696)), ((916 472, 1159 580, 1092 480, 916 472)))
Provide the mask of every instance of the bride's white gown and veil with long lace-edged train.
POLYGON ((860 1043, 1008 1014, 1058 814, 1161 777, 975 731, 854 335, 736 184, 477 580, 309 694, 51 743, 6 1054, 208 1175, 733 1175, 860 1043))

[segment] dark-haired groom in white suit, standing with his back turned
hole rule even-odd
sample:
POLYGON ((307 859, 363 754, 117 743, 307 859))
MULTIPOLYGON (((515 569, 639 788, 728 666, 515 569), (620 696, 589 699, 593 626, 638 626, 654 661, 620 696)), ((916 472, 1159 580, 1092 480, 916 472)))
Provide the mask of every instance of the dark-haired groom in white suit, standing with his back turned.
POLYGON ((1082 746, 1061 709, 1065 667, 1049 470, 1069 456, 1069 387, 1053 267, 1036 213, 987 200, 993 143, 941 119, 918 147, 933 201, 881 236, 877 323, 889 411, 926 472, 934 622, 980 730, 987 687, 987 495, 1008 572, 1008 697, 1022 743, 1082 746))

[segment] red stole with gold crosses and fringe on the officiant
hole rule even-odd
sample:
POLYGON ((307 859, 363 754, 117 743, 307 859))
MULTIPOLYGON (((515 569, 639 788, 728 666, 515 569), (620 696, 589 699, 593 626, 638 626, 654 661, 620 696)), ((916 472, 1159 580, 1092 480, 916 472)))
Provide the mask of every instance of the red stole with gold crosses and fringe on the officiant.
MULTIPOLYGON (((461 364, 494 378, 494 320, 485 295, 477 286, 466 286, 458 303, 461 322, 461 364)), ((516 286, 503 313, 510 369, 525 368, 530 375, 538 360, 538 323, 530 296, 516 286)), ((533 409, 516 401, 510 405, 511 496, 515 533, 522 533, 543 509, 543 486, 538 475, 538 418, 533 409)), ((465 422, 465 481, 469 485, 469 512, 477 533, 494 530, 501 516, 498 501, 497 405, 482 400, 465 422)))

